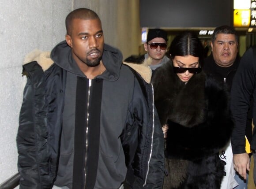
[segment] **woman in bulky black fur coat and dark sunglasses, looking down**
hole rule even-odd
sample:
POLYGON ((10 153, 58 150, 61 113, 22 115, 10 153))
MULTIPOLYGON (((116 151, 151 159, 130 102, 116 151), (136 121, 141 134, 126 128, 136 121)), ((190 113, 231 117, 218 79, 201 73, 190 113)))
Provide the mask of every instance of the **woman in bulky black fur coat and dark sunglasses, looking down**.
POLYGON ((233 122, 228 93, 201 71, 203 46, 193 33, 173 39, 171 60, 155 70, 155 105, 166 136, 164 189, 219 189, 225 174, 218 152, 233 122))

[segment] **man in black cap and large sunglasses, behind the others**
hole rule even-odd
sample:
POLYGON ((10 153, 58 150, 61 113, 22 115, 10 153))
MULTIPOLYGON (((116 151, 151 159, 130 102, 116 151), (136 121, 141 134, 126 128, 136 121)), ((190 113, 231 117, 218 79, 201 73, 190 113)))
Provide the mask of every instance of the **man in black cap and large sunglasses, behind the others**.
POLYGON ((152 71, 168 62, 167 52, 167 33, 162 29, 149 29, 147 33, 147 41, 144 43, 145 51, 142 56, 129 56, 124 62, 127 63, 143 63, 145 59, 151 58, 148 65, 152 71))

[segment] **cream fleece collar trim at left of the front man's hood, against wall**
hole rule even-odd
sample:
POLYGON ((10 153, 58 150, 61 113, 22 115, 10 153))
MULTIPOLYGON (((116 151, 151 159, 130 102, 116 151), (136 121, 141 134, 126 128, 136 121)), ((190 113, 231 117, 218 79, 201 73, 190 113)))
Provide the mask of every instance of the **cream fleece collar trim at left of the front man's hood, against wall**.
POLYGON ((30 63, 32 61, 37 61, 44 71, 53 64, 53 60, 50 58, 50 52, 43 52, 38 49, 28 53, 24 58, 23 64, 30 63))

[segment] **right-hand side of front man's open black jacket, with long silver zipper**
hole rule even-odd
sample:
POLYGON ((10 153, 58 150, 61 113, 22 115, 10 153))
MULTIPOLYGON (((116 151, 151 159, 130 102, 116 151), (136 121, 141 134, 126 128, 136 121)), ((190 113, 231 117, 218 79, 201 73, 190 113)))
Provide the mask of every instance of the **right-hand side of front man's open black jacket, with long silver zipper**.
POLYGON ((128 156, 127 182, 133 189, 162 189, 163 133, 155 109, 153 111, 153 95, 149 95, 150 88, 152 91, 152 86, 146 84, 144 89, 148 96, 145 97, 142 92, 144 89, 135 80, 126 127, 130 129, 124 131, 127 133, 123 140, 124 152, 126 157, 128 156))

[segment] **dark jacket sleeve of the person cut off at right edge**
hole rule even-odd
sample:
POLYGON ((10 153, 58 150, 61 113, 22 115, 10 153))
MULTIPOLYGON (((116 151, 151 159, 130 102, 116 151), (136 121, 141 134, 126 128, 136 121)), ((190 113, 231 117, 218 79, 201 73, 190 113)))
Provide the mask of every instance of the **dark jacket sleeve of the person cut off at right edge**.
POLYGON ((241 58, 233 78, 231 89, 231 111, 234 129, 231 137, 233 154, 245 153, 245 130, 250 99, 255 93, 256 66, 252 48, 241 58))

